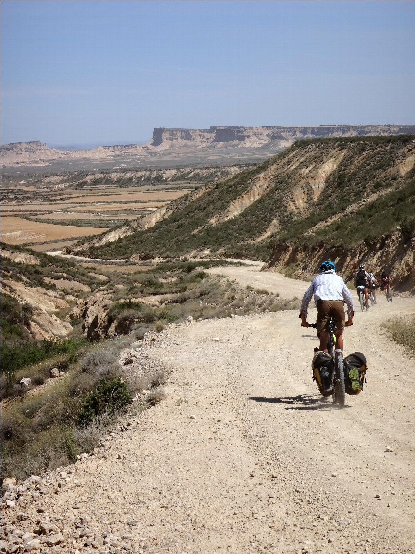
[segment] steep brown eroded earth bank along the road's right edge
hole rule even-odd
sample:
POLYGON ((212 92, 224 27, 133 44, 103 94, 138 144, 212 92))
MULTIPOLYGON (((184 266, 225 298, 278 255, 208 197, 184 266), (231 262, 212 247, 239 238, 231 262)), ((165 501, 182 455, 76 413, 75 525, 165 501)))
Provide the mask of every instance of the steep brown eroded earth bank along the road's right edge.
POLYGON ((279 272, 292 265, 297 278, 312 279, 318 273, 321 261, 326 259, 334 261, 337 272, 346 282, 354 278, 357 267, 364 263, 375 275, 385 269, 394 288, 415 294, 415 238, 406 241, 400 232, 347 250, 328 247, 324 243, 313 245, 313 248, 277 243, 263 271, 279 272))

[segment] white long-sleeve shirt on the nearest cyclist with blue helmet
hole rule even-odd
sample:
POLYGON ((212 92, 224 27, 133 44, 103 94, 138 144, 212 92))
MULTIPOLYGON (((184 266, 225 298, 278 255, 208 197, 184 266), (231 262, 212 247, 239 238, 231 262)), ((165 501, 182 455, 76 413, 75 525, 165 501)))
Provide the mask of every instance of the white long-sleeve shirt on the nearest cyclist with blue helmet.
POLYGON ((305 291, 301 311, 307 317, 307 308, 314 294, 314 304, 317 306, 319 300, 345 300, 347 304, 347 315, 355 311, 353 299, 349 289, 347 289, 340 275, 336 275, 333 270, 324 271, 317 277, 314 277, 312 284, 305 291))

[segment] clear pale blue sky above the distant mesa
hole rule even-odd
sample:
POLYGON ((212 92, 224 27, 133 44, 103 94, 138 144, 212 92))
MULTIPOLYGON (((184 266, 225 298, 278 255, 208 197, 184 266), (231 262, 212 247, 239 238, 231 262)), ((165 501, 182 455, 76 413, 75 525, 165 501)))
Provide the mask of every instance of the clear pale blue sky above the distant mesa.
POLYGON ((415 124, 415 2, 1 2, 1 143, 415 124))

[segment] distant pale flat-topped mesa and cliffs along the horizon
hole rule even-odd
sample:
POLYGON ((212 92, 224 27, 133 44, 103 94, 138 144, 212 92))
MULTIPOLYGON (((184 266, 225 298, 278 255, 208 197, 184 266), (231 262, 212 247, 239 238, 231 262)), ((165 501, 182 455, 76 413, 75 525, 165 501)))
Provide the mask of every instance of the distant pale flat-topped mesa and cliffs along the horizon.
MULTIPOLYGON (((110 160, 127 158, 129 164, 144 165, 152 156, 170 155, 173 151, 188 157, 212 157, 241 151, 261 151, 271 156, 294 141, 318 137, 415 135, 415 125, 318 125, 312 127, 243 127, 213 126, 209 129, 154 129, 153 139, 145 145, 97 146, 91 150, 60 151, 40 141, 2 145, 1 165, 45 165, 53 160, 110 160), (215 154, 212 154, 212 149, 215 154), (236 149, 236 150, 235 150, 236 149), (210 154, 209 154, 210 152, 210 154)), ((235 163, 235 161, 234 161, 235 163)))

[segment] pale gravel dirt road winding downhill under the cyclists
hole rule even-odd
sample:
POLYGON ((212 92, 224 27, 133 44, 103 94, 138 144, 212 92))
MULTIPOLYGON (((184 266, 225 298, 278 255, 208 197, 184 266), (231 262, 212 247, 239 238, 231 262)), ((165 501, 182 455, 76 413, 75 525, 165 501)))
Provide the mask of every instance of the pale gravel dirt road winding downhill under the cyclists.
MULTIPOLYGON (((308 286, 230 269, 255 288, 289 284, 290 296, 308 286)), ((345 355, 363 351, 369 371, 343 411, 310 378, 318 340, 297 312, 191 322, 148 341, 141 355, 167 367, 167 397, 36 501, 65 515, 68 542, 49 551, 127 551, 98 546, 110 533, 127 533, 134 552, 415 551, 415 360, 380 327, 415 313, 415 299, 378 300, 346 330, 345 355), (72 535, 80 516, 89 547, 72 535)))

